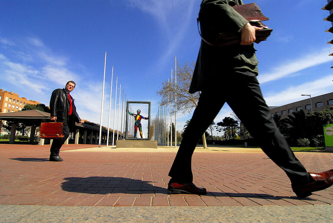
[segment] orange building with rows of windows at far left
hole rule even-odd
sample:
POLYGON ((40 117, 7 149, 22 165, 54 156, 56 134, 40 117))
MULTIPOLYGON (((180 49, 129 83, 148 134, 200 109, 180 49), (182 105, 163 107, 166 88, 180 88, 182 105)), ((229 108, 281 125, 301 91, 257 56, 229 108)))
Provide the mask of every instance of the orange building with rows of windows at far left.
POLYGON ((39 104, 38 101, 20 98, 18 94, 12 91, 4 91, 0 89, 0 113, 21 111, 26 104, 39 104))

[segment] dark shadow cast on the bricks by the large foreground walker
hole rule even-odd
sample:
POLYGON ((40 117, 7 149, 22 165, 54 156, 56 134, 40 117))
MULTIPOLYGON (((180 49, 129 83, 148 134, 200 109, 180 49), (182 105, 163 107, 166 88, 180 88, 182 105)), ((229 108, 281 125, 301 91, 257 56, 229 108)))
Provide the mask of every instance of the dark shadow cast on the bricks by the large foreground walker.
MULTIPOLYGON (((143 181, 130 179, 125 177, 68 177, 62 183, 61 187, 64 191, 86 193, 86 194, 169 194, 165 187, 154 186, 153 181, 143 181)), ((223 193, 207 191, 206 195, 213 197, 248 197, 267 200, 299 199, 297 197, 288 196, 272 196, 269 194, 253 194, 253 193, 223 193)), ((302 200, 314 201, 311 198, 303 198, 302 200)))

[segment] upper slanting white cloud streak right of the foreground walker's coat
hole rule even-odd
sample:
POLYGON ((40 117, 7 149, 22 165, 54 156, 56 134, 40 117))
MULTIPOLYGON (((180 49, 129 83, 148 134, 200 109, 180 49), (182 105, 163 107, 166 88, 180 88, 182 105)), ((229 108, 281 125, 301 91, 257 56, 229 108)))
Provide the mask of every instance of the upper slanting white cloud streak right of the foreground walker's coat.
POLYGON ((318 52, 308 53, 306 56, 299 57, 292 61, 285 61, 283 65, 276 65, 270 73, 260 74, 258 80, 262 84, 268 81, 288 77, 300 70, 331 61, 332 57, 327 55, 328 50, 323 49, 318 52))

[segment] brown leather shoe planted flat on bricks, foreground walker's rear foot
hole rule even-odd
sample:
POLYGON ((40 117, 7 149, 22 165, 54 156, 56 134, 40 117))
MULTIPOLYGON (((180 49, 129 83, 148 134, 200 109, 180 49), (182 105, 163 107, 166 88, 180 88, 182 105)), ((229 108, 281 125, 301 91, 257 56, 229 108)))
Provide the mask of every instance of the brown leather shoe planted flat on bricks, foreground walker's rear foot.
POLYGON ((195 186, 192 182, 189 184, 177 183, 172 178, 170 179, 167 190, 175 194, 206 194, 206 188, 199 188, 195 186))

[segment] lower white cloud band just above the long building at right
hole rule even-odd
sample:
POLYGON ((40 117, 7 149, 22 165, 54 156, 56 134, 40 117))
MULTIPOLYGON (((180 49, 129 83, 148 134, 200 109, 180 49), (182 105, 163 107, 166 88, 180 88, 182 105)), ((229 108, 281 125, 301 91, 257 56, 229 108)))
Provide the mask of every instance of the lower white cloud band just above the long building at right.
POLYGON ((332 80, 333 76, 327 75, 315 81, 289 87, 279 93, 268 94, 268 96, 265 97, 265 100, 269 106, 281 106, 283 104, 304 99, 301 94, 311 94, 311 96, 326 94, 327 92, 332 91, 332 80))

